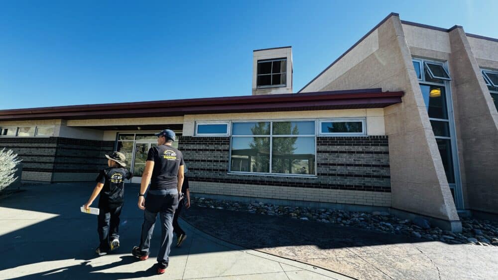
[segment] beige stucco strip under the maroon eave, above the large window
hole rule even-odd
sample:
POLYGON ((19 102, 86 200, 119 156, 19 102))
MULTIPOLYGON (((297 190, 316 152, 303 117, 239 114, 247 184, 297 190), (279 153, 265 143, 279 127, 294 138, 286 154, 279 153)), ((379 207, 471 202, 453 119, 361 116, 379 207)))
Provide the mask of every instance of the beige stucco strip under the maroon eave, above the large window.
POLYGON ((194 135, 196 121, 287 120, 355 117, 366 118, 368 135, 385 135, 384 110, 382 108, 185 115, 183 122, 183 135, 194 135))

